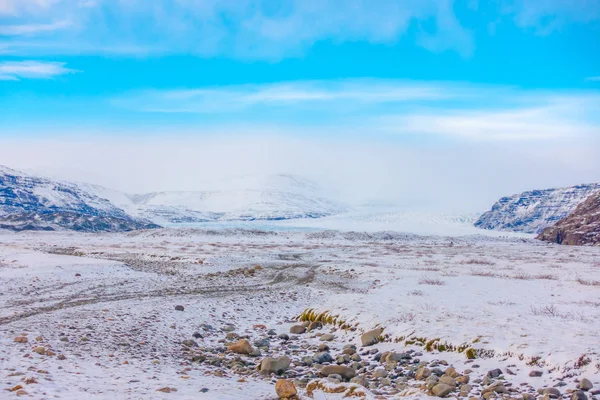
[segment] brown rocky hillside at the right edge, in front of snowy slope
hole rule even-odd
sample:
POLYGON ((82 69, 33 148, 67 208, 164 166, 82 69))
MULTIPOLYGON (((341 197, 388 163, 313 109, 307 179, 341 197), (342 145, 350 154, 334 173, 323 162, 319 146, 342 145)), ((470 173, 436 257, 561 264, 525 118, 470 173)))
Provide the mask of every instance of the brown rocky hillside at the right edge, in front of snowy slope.
POLYGON ((600 245, 600 192, 595 192, 566 218, 548 227, 537 237, 566 245, 600 245))

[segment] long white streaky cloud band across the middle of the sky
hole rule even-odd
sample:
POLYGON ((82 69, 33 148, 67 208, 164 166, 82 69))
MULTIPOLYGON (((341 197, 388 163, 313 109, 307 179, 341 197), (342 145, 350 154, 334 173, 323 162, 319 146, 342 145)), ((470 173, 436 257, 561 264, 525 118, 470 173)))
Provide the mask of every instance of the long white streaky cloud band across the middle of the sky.
POLYGON ((341 80, 186 90, 112 99, 145 113, 201 115, 216 125, 275 124, 288 132, 438 135, 463 141, 600 136, 600 93, 540 92, 448 82, 341 80))

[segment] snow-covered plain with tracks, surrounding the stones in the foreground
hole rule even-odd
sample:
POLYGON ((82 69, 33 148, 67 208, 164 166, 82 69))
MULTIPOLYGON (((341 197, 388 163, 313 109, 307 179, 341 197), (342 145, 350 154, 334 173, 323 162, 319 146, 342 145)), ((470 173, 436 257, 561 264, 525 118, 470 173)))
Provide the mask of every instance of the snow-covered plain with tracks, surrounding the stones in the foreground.
POLYGON ((514 396, 554 386, 565 394, 581 378, 593 383, 593 396, 600 389, 599 299, 600 248, 522 237, 4 232, 0 389, 22 388, 2 390, 0 398, 22 390, 48 399, 274 399, 276 378, 260 375, 256 364, 287 354, 292 366, 284 376, 301 388, 317 378, 302 360, 317 352, 323 333, 335 336, 327 342, 334 358, 344 345, 357 346, 367 398, 424 397, 423 382, 410 372, 423 363, 471 370, 471 396, 481 395, 495 368, 514 396), (346 329, 325 325, 294 338, 293 320, 309 308, 338 316, 346 329), (230 329, 253 343, 269 337, 261 325, 292 338, 271 337, 260 357, 238 360, 225 351, 235 341, 226 338, 230 329), (376 326, 385 328, 386 340, 374 346, 380 352, 412 354, 388 371, 390 385, 373 377, 389 366, 361 350, 361 333, 376 326), (23 336, 27 343, 15 342, 23 336), (182 346, 192 338, 198 347, 182 346), (477 358, 440 351, 452 346, 472 348, 477 358), (193 362, 194 352, 204 362, 193 362), (533 370, 542 375, 530 377, 533 370), (177 391, 157 391, 165 387, 177 391))

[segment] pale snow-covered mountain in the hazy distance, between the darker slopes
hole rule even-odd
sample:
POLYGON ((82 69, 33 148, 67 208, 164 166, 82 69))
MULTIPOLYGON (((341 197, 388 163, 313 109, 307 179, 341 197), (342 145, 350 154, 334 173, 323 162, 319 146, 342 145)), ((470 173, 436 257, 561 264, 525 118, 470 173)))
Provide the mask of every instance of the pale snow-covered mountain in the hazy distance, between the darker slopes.
POLYGON ((312 182, 293 175, 249 175, 205 191, 127 195, 94 185, 86 190, 157 224, 320 218, 345 211, 312 182))

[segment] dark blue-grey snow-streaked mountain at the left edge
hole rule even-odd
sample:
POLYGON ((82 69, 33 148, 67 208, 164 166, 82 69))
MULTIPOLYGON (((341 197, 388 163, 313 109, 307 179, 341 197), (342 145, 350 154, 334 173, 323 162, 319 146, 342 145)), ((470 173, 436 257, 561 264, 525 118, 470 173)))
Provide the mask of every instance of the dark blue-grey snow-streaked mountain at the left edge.
POLYGON ((77 185, 0 166, 0 229, 100 232, 157 227, 77 185))

